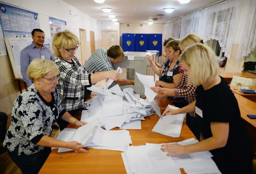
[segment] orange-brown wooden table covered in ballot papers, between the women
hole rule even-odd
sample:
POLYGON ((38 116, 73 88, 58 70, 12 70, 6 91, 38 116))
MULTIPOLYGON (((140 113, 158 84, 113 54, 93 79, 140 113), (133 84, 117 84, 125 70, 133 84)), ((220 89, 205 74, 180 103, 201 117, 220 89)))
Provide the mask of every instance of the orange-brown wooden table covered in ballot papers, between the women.
MULTIPOLYGON (((168 103, 167 99, 158 102, 161 112, 163 112, 168 103)), ((133 142, 132 146, 141 146, 145 145, 145 143, 177 142, 195 138, 186 124, 183 124, 179 138, 154 133, 151 130, 158 120, 159 116, 154 114, 145 117, 145 120, 141 121, 141 130, 128 129, 133 142)), ((69 127, 71 126, 69 125, 69 127)), ((119 128, 115 128, 114 130, 119 130, 119 128)), ((54 149, 41 168, 40 173, 126 174, 121 158, 121 151, 93 148, 87 148, 87 150, 89 151, 88 154, 76 154, 74 151, 57 153, 57 149, 54 149)), ((184 174, 183 169, 181 170, 184 174)))

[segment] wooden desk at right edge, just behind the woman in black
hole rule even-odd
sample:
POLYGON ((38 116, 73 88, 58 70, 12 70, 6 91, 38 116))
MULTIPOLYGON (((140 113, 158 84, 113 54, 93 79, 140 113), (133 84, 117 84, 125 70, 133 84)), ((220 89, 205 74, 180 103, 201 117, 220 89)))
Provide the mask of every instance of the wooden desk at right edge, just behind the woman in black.
MULTIPOLYGON (((246 99, 245 97, 234 93, 238 106, 240 109, 241 117, 246 123, 248 133, 250 135, 252 145, 253 145, 253 154, 256 153, 256 119, 250 119, 247 114, 256 115, 256 103, 251 100, 246 99)), ((239 137, 237 137, 239 138, 239 137)))

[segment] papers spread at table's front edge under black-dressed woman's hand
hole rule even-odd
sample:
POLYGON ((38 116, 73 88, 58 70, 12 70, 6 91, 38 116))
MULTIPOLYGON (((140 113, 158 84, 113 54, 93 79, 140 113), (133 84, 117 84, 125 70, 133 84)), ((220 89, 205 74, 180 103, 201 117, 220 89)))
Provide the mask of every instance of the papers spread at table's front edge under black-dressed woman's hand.
MULTIPOLYGON (((192 138, 177 144, 197 142, 192 138)), ((221 174, 209 151, 167 156, 167 152, 162 152, 161 145, 147 143, 128 147, 126 152, 121 153, 127 174, 180 174, 179 168, 184 168, 187 174, 221 174)))

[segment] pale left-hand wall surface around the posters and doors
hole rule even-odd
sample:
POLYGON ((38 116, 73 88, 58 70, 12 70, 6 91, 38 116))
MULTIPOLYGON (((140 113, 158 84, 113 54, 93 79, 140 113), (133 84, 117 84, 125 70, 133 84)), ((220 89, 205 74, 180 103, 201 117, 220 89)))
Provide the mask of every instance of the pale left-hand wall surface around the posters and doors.
MULTIPOLYGON (((87 57, 91 54, 90 50, 90 31, 94 31, 95 46, 101 44, 101 23, 86 13, 68 5, 61 0, 1 0, 13 6, 24 8, 39 13, 40 28, 45 32, 47 38, 51 37, 49 16, 67 21, 67 29, 71 30, 79 37, 79 28, 85 29, 87 33, 87 57), (72 15, 69 14, 72 11, 72 15)), ((81 59, 80 49, 76 51, 76 56, 81 59)), ((0 111, 7 114, 11 113, 14 100, 20 95, 9 56, 0 56, 0 111)))

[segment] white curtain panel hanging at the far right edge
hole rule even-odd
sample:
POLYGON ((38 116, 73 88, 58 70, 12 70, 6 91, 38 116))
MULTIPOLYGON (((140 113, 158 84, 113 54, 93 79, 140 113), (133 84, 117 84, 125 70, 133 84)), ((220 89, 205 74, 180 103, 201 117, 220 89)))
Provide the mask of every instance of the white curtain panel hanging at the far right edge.
POLYGON ((243 31, 239 39, 237 60, 243 60, 256 46, 256 0, 245 0, 244 6, 246 11, 241 24, 243 31))

